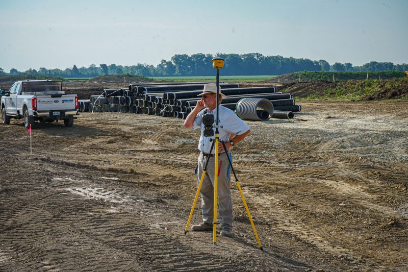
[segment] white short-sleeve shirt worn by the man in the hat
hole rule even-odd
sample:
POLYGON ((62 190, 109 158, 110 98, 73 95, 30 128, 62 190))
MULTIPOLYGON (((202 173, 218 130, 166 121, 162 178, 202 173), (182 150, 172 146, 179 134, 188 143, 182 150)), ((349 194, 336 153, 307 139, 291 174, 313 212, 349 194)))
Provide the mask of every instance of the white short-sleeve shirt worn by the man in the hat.
MULTIPOLYGON (((236 135, 241 135, 244 132, 247 132, 249 130, 248 125, 239 118, 234 111, 223 107, 222 105, 218 106, 219 114, 219 122, 218 125, 222 126, 222 128, 219 128, 219 141, 223 140, 224 142, 230 141, 230 136, 231 134, 236 134, 236 135)), ((201 129, 201 135, 200 135, 200 140, 198 142, 198 150, 203 152, 203 153, 211 153, 215 154, 214 148, 210 152, 211 144, 212 141, 210 139, 214 140, 214 137, 204 137, 204 129, 205 126, 202 123, 202 115, 205 114, 205 111, 207 113, 214 114, 214 119, 217 116, 217 108, 214 110, 210 111, 208 109, 203 109, 201 110, 197 116, 194 119, 194 124, 192 129, 201 129)), ((215 125, 215 120, 214 120, 214 125, 215 125)), ((214 136, 215 136, 215 128, 213 128, 214 131, 214 136)), ((221 144, 221 142, 220 142, 221 144)))

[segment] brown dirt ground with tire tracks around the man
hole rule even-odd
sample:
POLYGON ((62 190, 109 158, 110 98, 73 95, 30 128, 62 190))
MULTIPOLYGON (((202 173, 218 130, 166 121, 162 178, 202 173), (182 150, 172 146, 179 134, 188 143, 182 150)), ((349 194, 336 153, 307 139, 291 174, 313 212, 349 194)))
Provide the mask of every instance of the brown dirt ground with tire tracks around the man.
MULTIPOLYGON (((0 270, 408 270, 408 102, 302 102, 247 121, 233 160, 234 237, 188 232, 199 132, 81 113, 0 125, 0 270)), ((200 222, 197 204, 193 224, 200 222)))

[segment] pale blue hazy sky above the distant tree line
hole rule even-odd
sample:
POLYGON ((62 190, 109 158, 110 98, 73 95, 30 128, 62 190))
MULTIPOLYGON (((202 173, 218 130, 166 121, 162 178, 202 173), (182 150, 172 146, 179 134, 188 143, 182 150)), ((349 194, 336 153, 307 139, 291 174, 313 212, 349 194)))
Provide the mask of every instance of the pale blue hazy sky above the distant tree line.
POLYGON ((408 0, 0 0, 5 72, 196 53, 408 63, 408 0))

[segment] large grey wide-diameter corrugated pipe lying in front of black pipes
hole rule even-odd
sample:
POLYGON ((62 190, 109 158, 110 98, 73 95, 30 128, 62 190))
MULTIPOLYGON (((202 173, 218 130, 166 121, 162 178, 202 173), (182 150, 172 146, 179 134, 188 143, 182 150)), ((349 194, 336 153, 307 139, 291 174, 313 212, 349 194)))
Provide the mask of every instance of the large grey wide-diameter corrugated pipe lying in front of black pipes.
POLYGON ((273 114, 273 105, 265 98, 243 98, 238 101, 236 112, 241 119, 263 121, 273 114))

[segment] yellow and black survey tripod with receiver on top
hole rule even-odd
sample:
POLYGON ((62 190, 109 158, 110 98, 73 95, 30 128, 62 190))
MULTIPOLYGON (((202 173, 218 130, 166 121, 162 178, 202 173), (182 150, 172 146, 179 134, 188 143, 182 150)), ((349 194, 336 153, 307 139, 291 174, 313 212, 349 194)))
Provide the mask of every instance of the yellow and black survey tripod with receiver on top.
MULTIPOLYGON (((211 151, 213 150, 214 144, 215 144, 215 156, 214 156, 214 157, 215 157, 215 161, 214 161, 214 164, 215 164, 215 165, 214 165, 214 216, 213 216, 213 223, 212 223, 212 224, 213 224, 213 244, 215 245, 215 244, 216 244, 216 241, 217 241, 217 204, 218 204, 218 202, 217 202, 217 196, 218 196, 218 191, 217 191, 217 188, 218 188, 218 146, 219 146, 219 130, 218 130, 218 129, 220 128, 220 126, 218 125, 219 70, 224 67, 224 59, 222 59, 222 58, 214 58, 212 61, 213 61, 213 67, 217 69, 217 80, 216 80, 216 88, 217 88, 217 98, 216 98, 216 99, 217 99, 217 101, 216 101, 216 103, 217 103, 217 116, 216 116, 216 118, 215 118, 215 120, 216 120, 216 125, 215 125, 215 141, 213 141, 213 143, 211 144, 211 149, 210 149, 209 155, 208 155, 208 157, 207 157, 206 166, 204 167, 204 169, 203 169, 203 171, 202 171, 200 183, 199 183, 199 185, 198 185, 197 192, 195 193, 195 198, 194 198, 193 207, 191 207, 190 216, 189 216, 188 221, 187 221, 187 226, 186 226, 186 229, 184 230, 184 235, 186 235, 186 233, 188 232, 188 228, 189 228, 189 226, 190 226, 190 221, 191 221, 191 218, 192 218, 192 216, 193 216, 194 207, 195 207, 195 205, 196 205, 196 203, 197 203, 197 199, 198 199, 198 195, 199 195, 199 192, 200 192, 200 189, 201 189, 201 185, 202 185, 202 182, 203 182, 203 180, 204 180, 204 177, 206 176, 208 162, 210 161, 210 154, 211 154, 211 151)), ((226 146, 225 146, 224 141, 221 141, 221 144, 222 144, 222 146, 224 147, 224 151, 227 152, 227 149, 226 149, 226 146)), ((249 221, 251 222, 251 226, 252 226, 253 232, 254 232, 254 234, 255 234, 255 237, 257 238, 257 242, 258 242, 259 248, 260 248, 260 250, 263 250, 263 249, 262 249, 262 245, 261 245, 261 241, 260 241, 259 236, 258 236, 258 233, 257 233, 257 230, 256 230, 256 228, 255 228, 255 225, 253 224, 253 220, 252 220, 252 217, 251 217, 251 213, 249 212, 248 205, 246 204, 244 194, 242 193, 241 186, 239 185, 239 181, 238 181, 237 175, 235 175, 235 170, 234 170, 233 164, 232 164, 232 162, 231 162, 230 157, 227 156, 227 158, 228 158, 228 162, 230 163, 231 170, 232 170, 232 172, 233 172, 233 174, 234 174, 235 181, 236 181, 236 183, 237 183, 237 187, 238 187, 239 192, 240 192, 240 194, 241 194, 241 198, 242 198, 242 201, 243 201, 243 203, 244 203, 246 212, 247 212, 247 214, 248 214, 249 221)))

